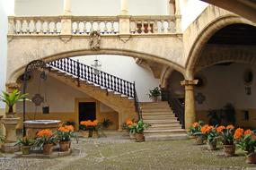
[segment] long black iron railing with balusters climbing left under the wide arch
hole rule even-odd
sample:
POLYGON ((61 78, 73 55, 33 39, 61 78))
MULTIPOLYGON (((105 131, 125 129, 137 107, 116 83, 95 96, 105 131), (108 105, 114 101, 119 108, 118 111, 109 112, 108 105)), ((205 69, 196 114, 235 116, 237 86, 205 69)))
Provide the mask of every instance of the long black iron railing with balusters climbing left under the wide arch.
POLYGON ((105 89, 110 89, 128 98, 134 98, 136 112, 138 117, 141 118, 139 101, 135 88, 135 82, 125 81, 117 76, 111 75, 108 72, 97 71, 95 68, 79 63, 71 58, 63 58, 53 62, 49 62, 49 66, 56 68, 60 72, 66 72, 77 79, 78 86, 80 81, 87 81, 105 89), (98 72, 98 73, 96 73, 98 72))

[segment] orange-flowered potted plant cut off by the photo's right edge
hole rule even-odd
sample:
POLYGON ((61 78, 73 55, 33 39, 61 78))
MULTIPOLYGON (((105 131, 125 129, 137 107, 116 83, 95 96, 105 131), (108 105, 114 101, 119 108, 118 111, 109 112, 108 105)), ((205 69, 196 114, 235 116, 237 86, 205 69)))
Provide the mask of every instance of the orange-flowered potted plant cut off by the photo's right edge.
POLYGON ((246 163, 256 163, 256 136, 251 130, 243 131, 238 128, 234 132, 237 148, 242 149, 246 154, 246 163))

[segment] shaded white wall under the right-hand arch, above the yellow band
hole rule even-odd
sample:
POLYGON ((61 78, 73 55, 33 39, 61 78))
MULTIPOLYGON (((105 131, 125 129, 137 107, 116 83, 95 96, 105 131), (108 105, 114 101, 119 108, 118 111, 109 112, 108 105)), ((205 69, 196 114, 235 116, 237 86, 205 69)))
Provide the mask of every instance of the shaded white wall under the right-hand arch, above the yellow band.
POLYGON ((216 65, 199 72, 206 78, 206 86, 202 89, 196 88, 198 92, 206 96, 206 101, 199 105, 198 110, 222 108, 226 103, 232 103, 237 109, 256 108, 256 68, 248 64, 231 64, 229 66, 216 65), (252 95, 246 95, 243 82, 243 74, 246 69, 252 69, 252 95))

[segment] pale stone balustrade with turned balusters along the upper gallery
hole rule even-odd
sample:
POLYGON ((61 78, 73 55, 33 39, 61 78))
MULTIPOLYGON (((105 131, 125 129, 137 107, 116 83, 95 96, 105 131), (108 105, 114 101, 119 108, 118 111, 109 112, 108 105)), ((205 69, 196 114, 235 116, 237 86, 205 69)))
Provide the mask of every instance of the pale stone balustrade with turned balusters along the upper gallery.
POLYGON ((10 16, 8 35, 174 34, 176 18, 161 16, 10 16), (122 24, 122 25, 120 25, 122 24), (124 30, 125 29, 125 30, 124 30))

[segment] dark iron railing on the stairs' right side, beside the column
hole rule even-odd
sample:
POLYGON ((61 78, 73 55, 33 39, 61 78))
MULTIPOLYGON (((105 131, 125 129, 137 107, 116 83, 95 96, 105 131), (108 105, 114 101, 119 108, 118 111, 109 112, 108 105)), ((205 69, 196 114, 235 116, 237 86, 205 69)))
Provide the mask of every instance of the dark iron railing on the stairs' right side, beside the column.
POLYGON ((173 98, 173 93, 171 90, 163 89, 162 94, 164 94, 164 100, 168 101, 168 104, 172 107, 173 113, 178 117, 182 129, 185 128, 185 107, 178 98, 173 98))

